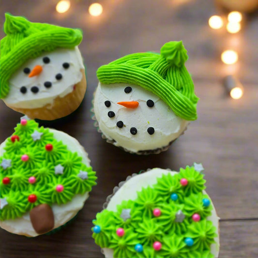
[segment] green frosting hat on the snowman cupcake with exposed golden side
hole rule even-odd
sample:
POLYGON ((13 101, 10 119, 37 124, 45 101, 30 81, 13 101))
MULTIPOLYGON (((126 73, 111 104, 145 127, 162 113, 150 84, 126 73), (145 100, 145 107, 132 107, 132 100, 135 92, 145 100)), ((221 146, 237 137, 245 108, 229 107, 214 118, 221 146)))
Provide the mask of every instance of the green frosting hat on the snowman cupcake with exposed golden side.
POLYGON ((32 23, 22 16, 5 14, 0 41, 0 97, 9 93, 10 76, 30 58, 58 47, 72 48, 80 44, 82 31, 46 23, 32 23))

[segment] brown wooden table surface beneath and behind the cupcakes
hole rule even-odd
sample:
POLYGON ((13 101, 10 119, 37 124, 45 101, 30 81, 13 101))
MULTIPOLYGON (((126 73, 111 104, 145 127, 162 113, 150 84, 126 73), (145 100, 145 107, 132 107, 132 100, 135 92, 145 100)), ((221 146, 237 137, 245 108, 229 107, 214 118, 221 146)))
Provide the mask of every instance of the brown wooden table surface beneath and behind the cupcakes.
MULTIPOLYGON (((98 185, 77 220, 51 236, 26 238, 0 229, 0 258, 102 258, 91 238, 91 220, 102 210, 106 196, 128 175, 152 167, 171 168, 201 162, 207 191, 220 221, 220 258, 258 257, 258 18, 245 19, 243 30, 229 34, 212 30, 208 19, 217 11, 207 0, 104 0, 99 17, 88 14, 91 1, 72 0, 65 14, 55 11, 57 0, 0 0, 4 13, 24 15, 34 22, 78 27, 84 31, 80 50, 87 64, 88 89, 76 112, 58 121, 40 122, 62 130, 85 147, 97 171, 98 185), (159 50, 170 40, 183 40, 186 66, 193 75, 198 120, 167 152, 137 156, 106 143, 91 120, 91 99, 97 86, 96 69, 123 55, 159 50), (227 66, 223 50, 238 51, 239 61, 227 66), (244 95, 225 95, 221 80, 234 73, 244 95)), ((0 31, 0 38, 4 36, 0 31)), ((0 142, 13 133, 20 114, 0 102, 0 142)))

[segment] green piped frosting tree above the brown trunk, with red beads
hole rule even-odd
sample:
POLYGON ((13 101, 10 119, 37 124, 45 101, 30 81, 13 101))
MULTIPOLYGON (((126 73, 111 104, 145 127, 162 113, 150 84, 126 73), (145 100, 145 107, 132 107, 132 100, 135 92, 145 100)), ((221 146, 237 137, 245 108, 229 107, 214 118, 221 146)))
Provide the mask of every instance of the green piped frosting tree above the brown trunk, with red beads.
POLYGON ((53 133, 38 127, 34 120, 17 124, 12 137, 7 138, 5 152, 0 156, 0 198, 8 202, 0 210, 0 220, 21 217, 39 204, 65 204, 76 194, 90 192, 96 184, 95 172, 82 163, 82 157, 69 151, 65 142, 57 141, 53 133), (35 131, 42 134, 33 139, 35 131), (52 145, 51 151, 46 150, 47 144, 52 145), (21 160, 24 154, 29 156, 26 162, 21 160), (5 160, 11 160, 11 167, 4 166, 5 160), (63 167, 62 173, 56 173, 57 166, 63 167), (81 171, 87 178, 79 176, 81 171), (36 182, 30 183, 30 177, 35 177, 36 182), (4 179, 9 182, 4 183, 4 179), (57 185, 62 185, 63 191, 58 192, 57 185), (34 203, 28 200, 30 195, 37 197, 34 203))

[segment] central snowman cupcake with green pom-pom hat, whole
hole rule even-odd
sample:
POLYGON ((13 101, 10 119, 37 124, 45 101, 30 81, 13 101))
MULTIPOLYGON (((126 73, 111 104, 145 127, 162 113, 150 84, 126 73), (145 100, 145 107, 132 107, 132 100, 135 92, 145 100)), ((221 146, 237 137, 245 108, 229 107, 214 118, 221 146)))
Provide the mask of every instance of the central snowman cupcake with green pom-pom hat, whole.
POLYGON ((98 69, 93 119, 108 142, 132 153, 159 153, 197 119, 186 53, 182 42, 168 42, 160 54, 131 54, 98 69))

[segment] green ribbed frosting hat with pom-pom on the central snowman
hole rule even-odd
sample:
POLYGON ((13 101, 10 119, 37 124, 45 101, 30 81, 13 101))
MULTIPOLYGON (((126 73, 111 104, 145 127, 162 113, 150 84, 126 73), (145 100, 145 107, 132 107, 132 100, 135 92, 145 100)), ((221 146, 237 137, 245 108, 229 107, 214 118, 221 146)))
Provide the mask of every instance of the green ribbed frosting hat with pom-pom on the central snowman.
POLYGON ((156 53, 136 53, 101 66, 101 83, 131 83, 160 97, 182 119, 197 119, 198 98, 184 62, 188 59, 182 41, 167 42, 156 53))

